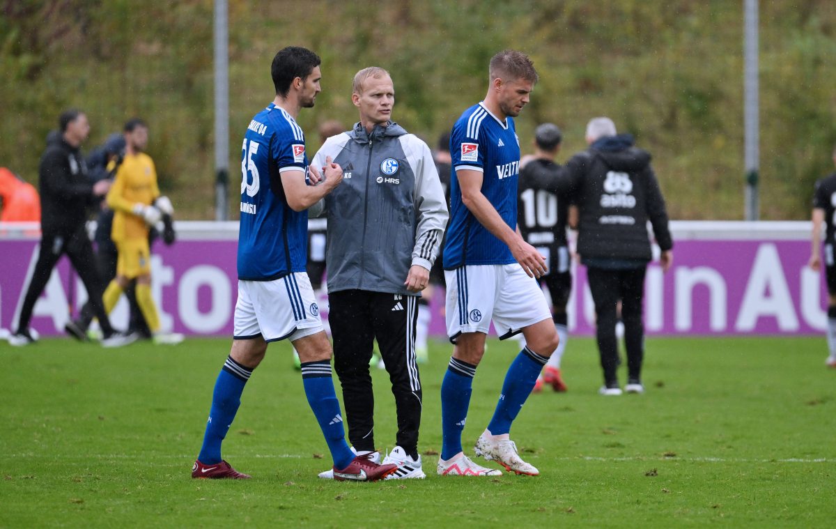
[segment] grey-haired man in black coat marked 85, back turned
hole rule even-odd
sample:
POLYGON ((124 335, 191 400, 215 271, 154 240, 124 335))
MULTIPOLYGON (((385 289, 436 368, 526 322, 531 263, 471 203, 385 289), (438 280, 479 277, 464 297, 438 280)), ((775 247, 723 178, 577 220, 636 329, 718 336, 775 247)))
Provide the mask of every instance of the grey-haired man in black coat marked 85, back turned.
POLYGON ((604 395, 620 395, 615 337, 621 301, 627 350, 627 393, 644 393, 641 366, 645 354, 642 300, 645 270, 652 258, 647 223, 661 249, 662 270, 673 262, 665 199, 650 167, 650 154, 633 146, 633 137, 616 135, 607 117, 589 121, 589 149, 567 163, 579 207, 578 254, 587 267, 595 302, 597 338, 604 369, 604 395))

